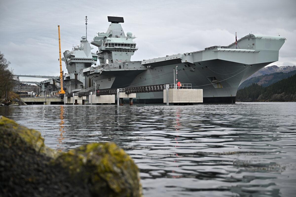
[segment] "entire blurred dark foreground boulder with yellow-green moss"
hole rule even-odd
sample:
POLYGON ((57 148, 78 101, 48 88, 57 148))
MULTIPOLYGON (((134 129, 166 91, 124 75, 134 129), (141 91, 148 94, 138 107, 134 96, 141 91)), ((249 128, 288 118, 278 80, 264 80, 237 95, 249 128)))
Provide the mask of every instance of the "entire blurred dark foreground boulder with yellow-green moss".
POLYGON ((113 143, 68 152, 0 116, 0 196, 142 196, 139 170, 113 143))

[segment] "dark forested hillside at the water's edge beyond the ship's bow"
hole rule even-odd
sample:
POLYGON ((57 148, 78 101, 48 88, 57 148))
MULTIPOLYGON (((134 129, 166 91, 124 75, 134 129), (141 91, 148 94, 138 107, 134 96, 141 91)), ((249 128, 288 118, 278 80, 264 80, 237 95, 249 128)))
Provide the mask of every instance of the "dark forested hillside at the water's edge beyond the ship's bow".
POLYGON ((296 75, 267 87, 252 83, 237 91, 237 101, 296 101, 296 75))

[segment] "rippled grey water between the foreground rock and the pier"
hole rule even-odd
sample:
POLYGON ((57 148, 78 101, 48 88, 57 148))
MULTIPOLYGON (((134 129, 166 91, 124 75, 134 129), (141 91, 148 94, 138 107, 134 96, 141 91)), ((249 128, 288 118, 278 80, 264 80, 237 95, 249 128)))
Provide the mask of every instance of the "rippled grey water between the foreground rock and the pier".
POLYGON ((145 196, 294 196, 296 103, 0 107, 68 150, 115 142, 145 196))

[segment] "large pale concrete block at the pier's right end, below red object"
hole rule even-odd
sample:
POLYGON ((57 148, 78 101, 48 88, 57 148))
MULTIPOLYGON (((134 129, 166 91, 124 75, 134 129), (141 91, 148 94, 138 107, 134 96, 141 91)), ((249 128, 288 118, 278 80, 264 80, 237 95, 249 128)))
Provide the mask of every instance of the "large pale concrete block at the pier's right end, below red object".
POLYGON ((174 104, 193 104, 203 102, 202 89, 167 89, 163 90, 163 102, 174 104))

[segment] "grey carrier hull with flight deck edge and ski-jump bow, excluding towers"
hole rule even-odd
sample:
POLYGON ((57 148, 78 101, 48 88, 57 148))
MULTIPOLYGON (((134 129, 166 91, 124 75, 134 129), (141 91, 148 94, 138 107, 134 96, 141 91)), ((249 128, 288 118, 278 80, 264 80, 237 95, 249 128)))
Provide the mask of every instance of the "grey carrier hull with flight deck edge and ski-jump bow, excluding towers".
MULTIPOLYGON (((125 88, 174 83, 177 80, 203 89, 204 103, 235 103, 238 86, 272 62, 278 61, 279 49, 285 38, 280 36, 247 35, 238 43, 240 48, 214 46, 202 51, 176 54, 161 58, 126 62, 119 68, 103 65, 86 71, 97 89, 125 88)), ((162 103, 162 92, 138 93, 135 102, 162 103)))

